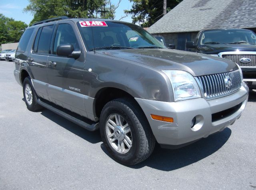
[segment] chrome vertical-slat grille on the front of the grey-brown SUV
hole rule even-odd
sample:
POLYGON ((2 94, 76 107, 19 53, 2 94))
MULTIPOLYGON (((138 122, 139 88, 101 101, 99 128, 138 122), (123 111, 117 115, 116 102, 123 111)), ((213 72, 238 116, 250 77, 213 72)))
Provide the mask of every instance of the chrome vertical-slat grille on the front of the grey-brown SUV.
POLYGON ((196 77, 200 84, 203 95, 208 98, 216 98, 235 92, 241 88, 241 76, 239 70, 224 72, 219 74, 211 74, 196 77), (230 88, 226 87, 225 78, 229 77, 232 81, 230 88))

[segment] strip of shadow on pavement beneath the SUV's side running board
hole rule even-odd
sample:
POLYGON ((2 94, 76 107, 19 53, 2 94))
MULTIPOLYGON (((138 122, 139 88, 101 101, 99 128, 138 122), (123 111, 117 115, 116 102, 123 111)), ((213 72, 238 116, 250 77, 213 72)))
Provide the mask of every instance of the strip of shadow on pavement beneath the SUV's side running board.
POLYGON ((86 140, 92 144, 99 143, 102 141, 101 137, 100 137, 99 130, 98 131, 88 131, 87 129, 84 129, 84 128, 80 127, 79 125, 72 123, 68 119, 65 119, 65 118, 59 116, 58 114, 55 114, 54 112, 47 110, 47 109, 40 110, 40 112, 42 112, 41 114, 44 117, 52 120, 54 123, 57 123, 61 127, 70 131, 71 133, 74 133, 75 135, 83 138, 84 140, 86 140))

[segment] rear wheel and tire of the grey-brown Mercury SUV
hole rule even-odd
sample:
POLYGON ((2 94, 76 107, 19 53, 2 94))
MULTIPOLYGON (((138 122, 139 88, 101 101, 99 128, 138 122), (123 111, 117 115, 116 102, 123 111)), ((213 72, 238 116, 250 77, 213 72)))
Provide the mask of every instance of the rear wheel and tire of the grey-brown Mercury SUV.
POLYGON ((35 112, 42 109, 42 106, 37 103, 38 97, 29 77, 26 77, 23 82, 23 96, 28 110, 35 112))

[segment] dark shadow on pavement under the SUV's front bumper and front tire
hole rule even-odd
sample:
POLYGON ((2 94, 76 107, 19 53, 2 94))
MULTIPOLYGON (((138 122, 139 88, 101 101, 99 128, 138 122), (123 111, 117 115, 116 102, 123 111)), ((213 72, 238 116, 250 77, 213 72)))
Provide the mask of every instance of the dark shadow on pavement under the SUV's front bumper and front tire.
MULTIPOLYGON (((194 163, 218 151, 218 149, 228 141, 231 133, 232 131, 230 128, 225 128, 220 133, 210 135, 209 137, 196 141, 191 145, 174 150, 162 149, 160 145, 156 144, 152 155, 146 159, 146 161, 128 167, 138 169, 148 166, 157 170, 172 171, 184 166, 193 165, 194 163)), ((101 148, 109 157, 111 157, 103 143, 101 148)))

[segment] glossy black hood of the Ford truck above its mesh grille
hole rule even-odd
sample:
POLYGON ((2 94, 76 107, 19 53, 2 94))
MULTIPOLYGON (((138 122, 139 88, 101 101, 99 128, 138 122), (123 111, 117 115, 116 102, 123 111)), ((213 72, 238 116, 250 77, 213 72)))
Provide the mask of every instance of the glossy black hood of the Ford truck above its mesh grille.
POLYGON ((256 45, 250 44, 211 44, 198 48, 201 53, 218 54, 224 51, 256 51, 256 45))

